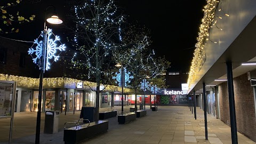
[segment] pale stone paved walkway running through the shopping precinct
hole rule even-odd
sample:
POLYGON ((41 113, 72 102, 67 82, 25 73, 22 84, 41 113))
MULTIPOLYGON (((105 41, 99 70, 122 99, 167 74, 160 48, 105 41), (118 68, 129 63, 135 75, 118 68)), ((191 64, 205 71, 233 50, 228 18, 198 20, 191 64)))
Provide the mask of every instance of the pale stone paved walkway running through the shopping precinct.
MULTIPOLYGON (((124 106, 129 111, 131 106, 124 106)), ((121 111, 121 106, 115 106, 121 111)), ((118 124, 117 117, 109 121, 108 132, 82 143, 231 143, 230 127, 220 119, 207 114, 208 140, 205 140, 204 111, 197 108, 197 119, 186 106, 158 106, 158 111, 151 111, 146 106, 147 116, 137 118, 127 124, 118 124)), ((100 111, 107 111, 101 108, 100 111)), ((60 114, 59 132, 44 134, 44 113, 41 120, 40 143, 63 144, 63 127, 65 122, 74 122, 79 119, 80 111, 60 114)), ((37 113, 22 112, 14 114, 14 126, 11 143, 35 143, 37 113)), ((0 144, 8 143, 10 118, 0 119, 0 144)), ((237 132, 238 143, 255 143, 243 134, 237 132)))

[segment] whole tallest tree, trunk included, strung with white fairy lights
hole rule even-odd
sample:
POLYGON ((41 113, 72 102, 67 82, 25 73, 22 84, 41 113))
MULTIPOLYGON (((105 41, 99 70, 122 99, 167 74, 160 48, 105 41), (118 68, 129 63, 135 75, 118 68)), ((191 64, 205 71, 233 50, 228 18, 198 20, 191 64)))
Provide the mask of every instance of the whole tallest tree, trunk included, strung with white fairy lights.
POLYGON ((97 83, 95 121, 99 119, 100 84, 102 76, 109 69, 111 53, 121 42, 122 12, 113 0, 72 1, 74 14, 69 14, 69 30, 74 34, 70 40, 77 55, 71 60, 74 68, 83 69, 92 81, 97 83), (72 25, 74 24, 74 25, 72 25))

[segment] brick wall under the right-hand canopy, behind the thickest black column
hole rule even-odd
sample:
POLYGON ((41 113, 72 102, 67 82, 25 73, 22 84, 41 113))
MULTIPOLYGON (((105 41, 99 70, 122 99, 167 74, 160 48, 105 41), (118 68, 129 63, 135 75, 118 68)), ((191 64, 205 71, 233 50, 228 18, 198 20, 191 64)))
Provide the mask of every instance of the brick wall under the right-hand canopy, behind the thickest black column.
MULTIPOLYGON (((233 84, 237 131, 256 141, 254 95, 247 73, 234 78, 233 84)), ((221 121, 230 125, 227 82, 219 85, 219 99, 221 121)))

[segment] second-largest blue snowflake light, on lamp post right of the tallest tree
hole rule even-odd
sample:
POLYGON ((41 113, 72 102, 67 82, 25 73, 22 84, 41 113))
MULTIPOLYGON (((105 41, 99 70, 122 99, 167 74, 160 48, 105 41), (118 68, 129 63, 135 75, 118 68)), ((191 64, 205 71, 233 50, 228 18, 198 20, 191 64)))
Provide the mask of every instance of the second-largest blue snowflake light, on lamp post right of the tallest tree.
MULTIPOLYGON (((121 75, 122 74, 122 69, 119 69, 119 73, 116 73, 116 76, 113 76, 113 79, 116 79, 116 83, 118 84, 118 86, 122 86, 122 78, 121 75)), ((133 78, 133 76, 131 76, 131 73, 129 71, 126 70, 126 68, 124 68, 124 87, 127 87, 127 83, 131 82, 131 79, 133 78)))

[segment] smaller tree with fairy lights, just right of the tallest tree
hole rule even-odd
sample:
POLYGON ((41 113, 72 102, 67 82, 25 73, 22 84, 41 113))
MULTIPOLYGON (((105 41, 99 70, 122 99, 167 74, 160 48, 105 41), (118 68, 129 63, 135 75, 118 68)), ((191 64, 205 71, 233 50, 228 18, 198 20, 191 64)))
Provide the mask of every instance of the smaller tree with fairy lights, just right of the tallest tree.
MULTIPOLYGON (((141 27, 138 22, 130 25, 124 34, 123 45, 113 53, 113 59, 117 63, 122 63, 133 74, 131 87, 134 88, 135 97, 137 97, 137 92, 141 90, 146 76, 151 79, 157 78, 169 68, 170 62, 165 61, 164 58, 153 58, 155 53, 150 49, 150 30, 141 27)), ((161 79, 165 82, 163 78, 161 79)), ((137 101, 135 101, 136 106, 137 101)))

